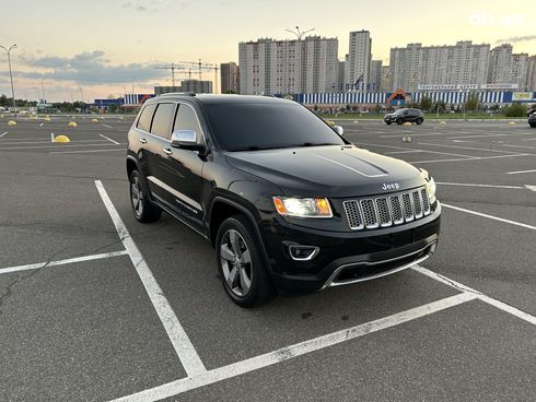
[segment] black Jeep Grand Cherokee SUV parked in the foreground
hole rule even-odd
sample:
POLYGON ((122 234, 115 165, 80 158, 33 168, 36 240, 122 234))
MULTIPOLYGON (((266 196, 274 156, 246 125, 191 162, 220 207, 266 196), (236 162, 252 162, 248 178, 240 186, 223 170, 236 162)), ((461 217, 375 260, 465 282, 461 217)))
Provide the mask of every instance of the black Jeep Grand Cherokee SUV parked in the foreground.
POLYGON ((440 232, 433 179, 336 131, 291 100, 150 99, 128 133, 133 213, 153 222, 166 211, 209 239, 243 307, 427 259, 440 232))

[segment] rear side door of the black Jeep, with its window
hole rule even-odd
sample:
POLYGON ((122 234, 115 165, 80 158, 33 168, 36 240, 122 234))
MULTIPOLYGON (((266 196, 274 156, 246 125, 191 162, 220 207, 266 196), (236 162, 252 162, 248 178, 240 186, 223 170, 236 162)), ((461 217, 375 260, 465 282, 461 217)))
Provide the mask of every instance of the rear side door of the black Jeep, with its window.
POLYGON ((152 118, 150 134, 145 147, 147 182, 151 194, 158 201, 168 202, 170 194, 166 184, 167 157, 164 150, 170 147, 170 137, 173 117, 175 116, 175 103, 159 103, 152 118))

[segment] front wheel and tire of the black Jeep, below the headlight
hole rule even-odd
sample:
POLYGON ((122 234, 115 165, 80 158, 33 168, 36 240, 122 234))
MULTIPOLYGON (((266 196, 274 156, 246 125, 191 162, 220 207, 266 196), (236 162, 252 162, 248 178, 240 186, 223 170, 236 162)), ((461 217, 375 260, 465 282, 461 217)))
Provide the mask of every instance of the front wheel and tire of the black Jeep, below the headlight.
POLYGON ((215 238, 218 267, 223 288, 241 307, 256 307, 276 292, 249 221, 234 215, 220 225, 215 238))

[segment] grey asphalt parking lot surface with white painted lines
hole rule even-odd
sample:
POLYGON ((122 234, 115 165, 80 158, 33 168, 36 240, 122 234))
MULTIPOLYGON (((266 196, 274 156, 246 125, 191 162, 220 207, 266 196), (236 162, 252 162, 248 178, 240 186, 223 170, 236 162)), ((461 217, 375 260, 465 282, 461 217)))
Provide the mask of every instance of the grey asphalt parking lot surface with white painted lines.
POLYGON ((206 240, 166 214, 132 216, 131 118, 92 119, 0 119, 1 401, 534 400, 526 123, 336 120, 359 146, 433 175, 438 251, 395 275, 244 310, 206 240), (51 143, 59 134, 71 142, 51 143))

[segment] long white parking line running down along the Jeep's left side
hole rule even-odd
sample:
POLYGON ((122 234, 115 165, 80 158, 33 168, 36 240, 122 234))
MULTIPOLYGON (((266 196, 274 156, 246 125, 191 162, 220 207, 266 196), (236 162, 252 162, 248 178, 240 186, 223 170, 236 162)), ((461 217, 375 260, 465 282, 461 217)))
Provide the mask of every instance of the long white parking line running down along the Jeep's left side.
POLYGON ((138 246, 136 246, 136 243, 130 237, 127 227, 123 223, 119 213, 112 203, 112 200, 109 199, 101 180, 96 180, 95 186, 101 194, 106 210, 108 211, 109 217, 114 222, 117 234, 119 235, 119 238, 121 239, 123 245, 125 246, 125 249, 127 250, 130 260, 132 261, 132 264, 135 265, 143 286, 145 287, 147 294, 149 295, 149 298, 151 299, 154 309, 156 310, 156 314, 159 315, 160 320, 167 332, 167 336, 170 336, 173 347, 175 348, 175 352, 177 353, 177 356, 186 370, 186 374, 188 377, 193 377, 207 373, 207 369, 205 368, 201 358, 197 354, 196 348, 191 344, 188 334, 178 321, 175 311, 170 305, 170 302, 167 302, 167 298, 164 296, 162 288, 149 269, 149 265, 138 249, 138 246))

